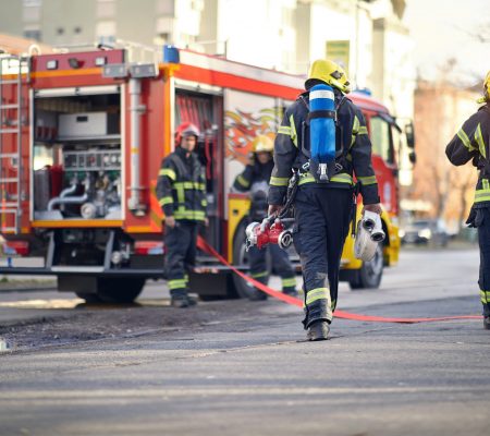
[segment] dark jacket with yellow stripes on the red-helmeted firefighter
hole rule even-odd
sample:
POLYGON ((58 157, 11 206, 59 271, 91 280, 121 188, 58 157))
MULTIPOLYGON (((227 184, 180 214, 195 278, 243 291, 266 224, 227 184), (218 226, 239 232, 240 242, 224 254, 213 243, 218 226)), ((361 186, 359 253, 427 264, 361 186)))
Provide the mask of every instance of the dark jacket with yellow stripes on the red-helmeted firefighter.
POLYGON ((176 220, 204 221, 206 218, 206 178, 197 156, 179 147, 160 167, 157 196, 163 214, 176 220))

